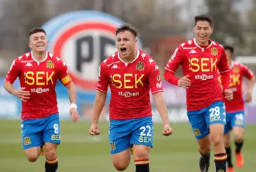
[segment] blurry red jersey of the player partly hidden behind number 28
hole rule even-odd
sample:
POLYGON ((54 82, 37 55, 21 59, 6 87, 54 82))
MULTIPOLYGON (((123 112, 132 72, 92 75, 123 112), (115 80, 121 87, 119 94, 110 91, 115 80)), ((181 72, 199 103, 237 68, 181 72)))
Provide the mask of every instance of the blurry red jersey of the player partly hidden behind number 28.
POLYGON ((242 65, 234 61, 229 68, 231 78, 229 87, 231 87, 231 90, 233 91, 233 100, 225 100, 226 112, 242 111, 244 110, 242 78, 246 77, 250 80, 254 75, 246 65, 242 65))

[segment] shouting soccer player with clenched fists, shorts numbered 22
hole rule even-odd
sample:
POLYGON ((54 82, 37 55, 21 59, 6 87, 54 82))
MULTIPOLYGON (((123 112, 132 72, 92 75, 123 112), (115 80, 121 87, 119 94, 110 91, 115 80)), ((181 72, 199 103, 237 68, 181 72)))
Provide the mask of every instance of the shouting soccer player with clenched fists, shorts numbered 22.
POLYGON ((118 52, 100 64, 89 134, 100 133, 98 118, 109 86, 109 147, 114 167, 118 171, 127 169, 131 159, 129 151, 133 147, 136 172, 149 172, 149 151, 153 147, 150 89, 164 123, 162 134, 169 136, 173 131, 164 104, 158 65, 148 54, 136 49, 137 36, 136 29, 128 24, 116 30, 118 52))

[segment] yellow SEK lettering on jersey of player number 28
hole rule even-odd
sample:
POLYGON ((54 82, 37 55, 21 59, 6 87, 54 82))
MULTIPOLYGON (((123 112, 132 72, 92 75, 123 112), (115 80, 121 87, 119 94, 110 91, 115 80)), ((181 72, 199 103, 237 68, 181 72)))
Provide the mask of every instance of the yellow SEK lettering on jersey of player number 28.
POLYGON ((214 72, 217 69, 217 58, 191 58, 189 65, 192 72, 214 72))

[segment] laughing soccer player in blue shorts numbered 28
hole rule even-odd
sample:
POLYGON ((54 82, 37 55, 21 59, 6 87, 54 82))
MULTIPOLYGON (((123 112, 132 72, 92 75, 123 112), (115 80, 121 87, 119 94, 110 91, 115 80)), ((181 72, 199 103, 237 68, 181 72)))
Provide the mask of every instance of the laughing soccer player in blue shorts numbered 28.
POLYGON ((223 142, 226 112, 224 98, 231 100, 228 63, 224 48, 209 39, 213 32, 212 20, 207 15, 195 17, 195 38, 182 43, 165 67, 164 78, 173 85, 186 88, 187 115, 198 140, 200 170, 209 170, 211 143, 216 171, 226 171, 226 151, 223 142), (184 76, 175 72, 182 65, 184 76), (218 82, 221 74, 224 95, 218 82), (211 135, 209 134, 211 133, 211 135))

